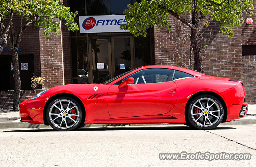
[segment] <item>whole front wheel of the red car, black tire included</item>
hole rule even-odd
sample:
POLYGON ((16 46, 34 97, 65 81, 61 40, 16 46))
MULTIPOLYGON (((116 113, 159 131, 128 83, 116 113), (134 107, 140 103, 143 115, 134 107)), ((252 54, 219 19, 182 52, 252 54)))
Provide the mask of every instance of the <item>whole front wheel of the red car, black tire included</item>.
POLYGON ((49 103, 46 119, 49 125, 57 131, 72 131, 84 123, 82 122, 83 114, 82 107, 75 99, 58 97, 49 103))

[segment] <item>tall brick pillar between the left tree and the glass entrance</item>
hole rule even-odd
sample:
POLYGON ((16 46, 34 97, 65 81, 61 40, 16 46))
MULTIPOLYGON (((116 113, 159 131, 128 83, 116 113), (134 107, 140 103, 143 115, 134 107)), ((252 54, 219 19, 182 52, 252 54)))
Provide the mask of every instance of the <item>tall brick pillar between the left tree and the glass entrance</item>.
MULTIPOLYGON (((67 0, 63 4, 67 6, 67 0)), ((42 77, 45 77, 43 89, 72 83, 70 33, 63 21, 60 30, 60 34, 51 33, 49 37, 39 32, 42 77)))

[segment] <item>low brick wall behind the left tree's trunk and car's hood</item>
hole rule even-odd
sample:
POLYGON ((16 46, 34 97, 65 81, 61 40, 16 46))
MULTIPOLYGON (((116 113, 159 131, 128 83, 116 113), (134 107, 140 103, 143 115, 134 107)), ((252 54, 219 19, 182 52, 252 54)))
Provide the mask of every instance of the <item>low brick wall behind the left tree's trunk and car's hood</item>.
MULTIPOLYGON (((41 89, 37 90, 22 90, 20 91, 21 99, 24 101, 29 97, 32 97, 42 91, 41 89)), ((13 107, 13 91, 0 91, 0 111, 2 110, 12 110, 13 107)))

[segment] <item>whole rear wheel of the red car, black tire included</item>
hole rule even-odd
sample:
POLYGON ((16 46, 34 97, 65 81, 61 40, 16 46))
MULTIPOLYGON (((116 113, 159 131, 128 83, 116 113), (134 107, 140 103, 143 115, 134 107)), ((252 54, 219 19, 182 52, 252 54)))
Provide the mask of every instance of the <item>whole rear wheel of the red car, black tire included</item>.
POLYGON ((223 116, 224 109, 219 99, 208 94, 198 95, 189 101, 186 125, 196 129, 213 129, 221 123, 223 116))

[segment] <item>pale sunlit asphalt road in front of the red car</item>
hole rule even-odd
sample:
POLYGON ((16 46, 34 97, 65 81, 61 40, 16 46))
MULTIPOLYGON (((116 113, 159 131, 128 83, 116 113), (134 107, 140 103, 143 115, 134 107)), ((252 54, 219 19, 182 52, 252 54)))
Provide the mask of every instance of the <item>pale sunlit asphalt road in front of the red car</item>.
POLYGON ((0 166, 255 166, 256 125, 0 129, 0 166), (160 160, 159 153, 251 153, 251 160, 160 160))

